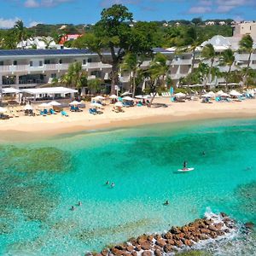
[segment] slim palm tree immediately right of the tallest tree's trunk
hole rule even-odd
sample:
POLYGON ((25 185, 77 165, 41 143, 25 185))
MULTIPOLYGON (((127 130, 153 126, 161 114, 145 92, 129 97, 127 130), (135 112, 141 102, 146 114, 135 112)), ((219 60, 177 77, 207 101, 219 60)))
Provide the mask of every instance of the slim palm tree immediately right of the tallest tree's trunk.
POLYGON ((137 74, 142 64, 143 61, 139 60, 136 54, 128 53, 125 55, 123 63, 120 66, 122 70, 130 73, 132 97, 135 96, 137 74))

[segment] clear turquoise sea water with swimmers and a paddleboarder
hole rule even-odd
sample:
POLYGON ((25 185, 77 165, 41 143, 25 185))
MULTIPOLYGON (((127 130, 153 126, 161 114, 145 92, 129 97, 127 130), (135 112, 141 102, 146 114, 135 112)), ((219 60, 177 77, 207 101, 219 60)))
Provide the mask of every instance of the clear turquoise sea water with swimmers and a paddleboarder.
MULTIPOLYGON (((186 224, 207 207, 256 223, 253 119, 81 132, 0 149, 1 255, 83 255, 186 224), (177 172, 184 160, 194 172, 177 172)), ((254 252, 251 243, 241 239, 254 252)))

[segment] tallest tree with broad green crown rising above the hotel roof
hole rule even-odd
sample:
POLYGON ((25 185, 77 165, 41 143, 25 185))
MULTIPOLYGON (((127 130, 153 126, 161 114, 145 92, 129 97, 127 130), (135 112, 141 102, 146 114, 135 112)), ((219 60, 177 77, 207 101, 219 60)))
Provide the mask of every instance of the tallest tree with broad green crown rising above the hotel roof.
POLYGON ((89 48, 96 52, 102 63, 112 66, 111 93, 114 93, 114 85, 119 83, 119 64, 127 52, 136 54, 151 51, 153 40, 148 36, 151 32, 146 25, 139 23, 134 27, 132 14, 121 4, 113 4, 112 7, 102 10, 102 17, 93 28, 92 33, 87 33, 74 43, 78 48, 89 48), (103 54, 106 49, 110 52, 110 58, 103 54))

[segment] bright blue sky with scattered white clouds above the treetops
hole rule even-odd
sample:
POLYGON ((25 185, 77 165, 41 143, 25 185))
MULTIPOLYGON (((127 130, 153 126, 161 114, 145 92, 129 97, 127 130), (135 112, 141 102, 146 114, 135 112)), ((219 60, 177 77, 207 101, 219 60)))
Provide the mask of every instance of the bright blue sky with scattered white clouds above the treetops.
POLYGON ((113 3, 127 6, 134 20, 256 20, 256 0, 0 0, 0 28, 16 20, 26 26, 93 24, 113 3))

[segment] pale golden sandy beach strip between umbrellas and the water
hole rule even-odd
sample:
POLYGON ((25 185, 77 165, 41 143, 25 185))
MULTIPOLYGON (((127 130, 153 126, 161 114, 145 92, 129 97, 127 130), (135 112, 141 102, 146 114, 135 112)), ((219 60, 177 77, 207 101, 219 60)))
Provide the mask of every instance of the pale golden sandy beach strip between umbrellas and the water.
POLYGON ((168 108, 133 107, 124 108, 124 113, 114 113, 113 105, 107 104, 102 114, 92 115, 88 113, 88 106, 90 106, 88 102, 83 112, 67 111, 69 117, 62 117, 61 113, 31 117, 25 116, 22 112, 18 118, 0 120, 0 140, 24 141, 75 131, 196 119, 256 117, 256 99, 204 104, 200 101, 171 102, 169 98, 157 98, 154 102, 166 103, 168 108))

